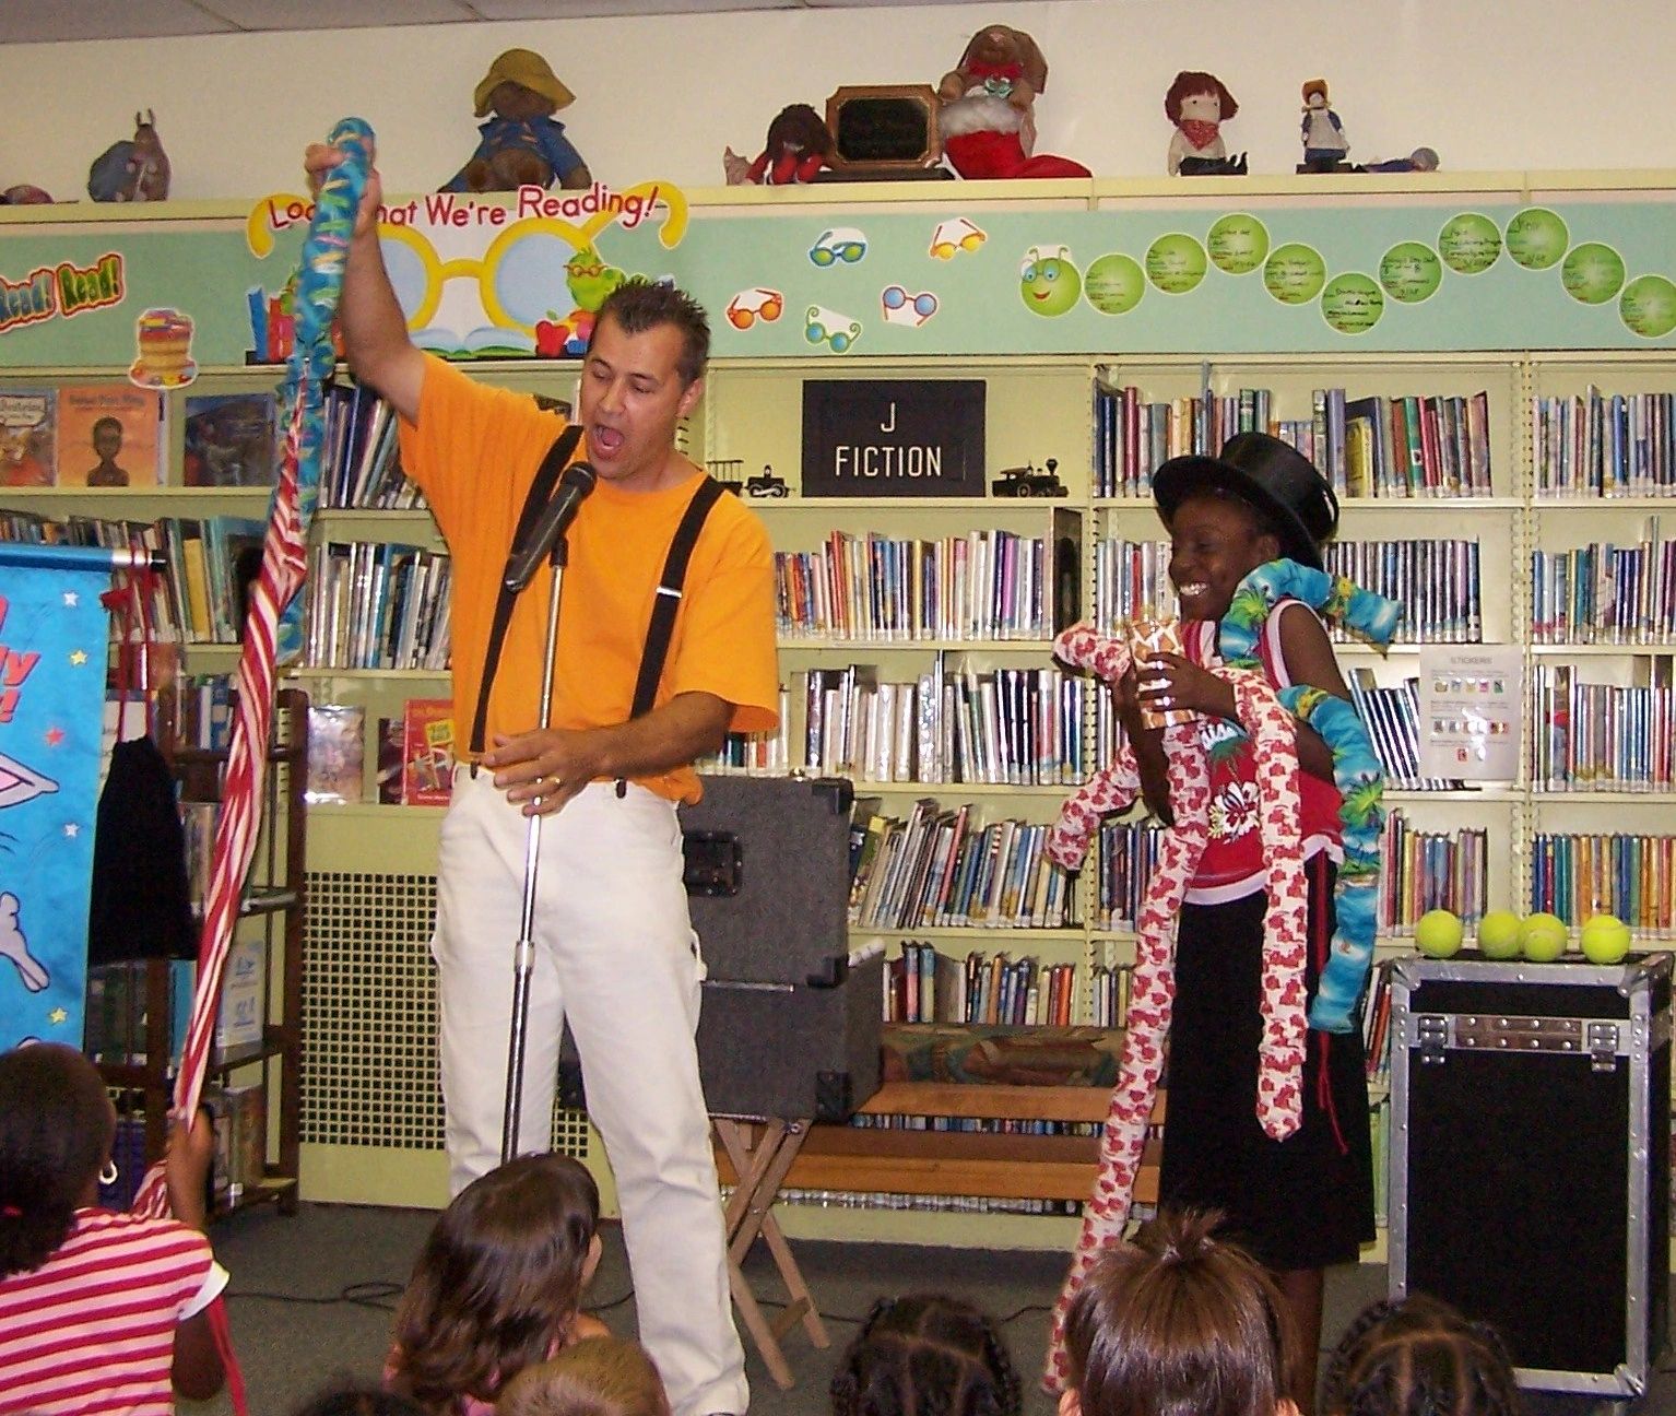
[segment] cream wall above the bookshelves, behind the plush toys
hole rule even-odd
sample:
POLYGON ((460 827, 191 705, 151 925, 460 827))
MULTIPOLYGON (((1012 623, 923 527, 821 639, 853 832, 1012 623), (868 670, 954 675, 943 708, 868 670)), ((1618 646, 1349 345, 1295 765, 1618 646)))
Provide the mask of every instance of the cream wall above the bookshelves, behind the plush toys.
POLYGON ((1099 176, 1163 171, 1178 69, 1240 101, 1225 136, 1254 171, 1297 161, 1314 75, 1358 159, 1430 144, 1453 171, 1676 168, 1676 124, 1653 99, 1676 72, 1668 0, 1041 0, 7 45, 0 186, 82 196, 94 156, 153 107, 176 198, 295 189, 303 144, 350 112, 379 132, 385 188, 427 191, 469 156, 471 90, 511 45, 577 92, 563 119, 597 178, 711 186, 722 146, 754 156, 783 104, 935 82, 991 20, 1048 57, 1039 151, 1099 176))

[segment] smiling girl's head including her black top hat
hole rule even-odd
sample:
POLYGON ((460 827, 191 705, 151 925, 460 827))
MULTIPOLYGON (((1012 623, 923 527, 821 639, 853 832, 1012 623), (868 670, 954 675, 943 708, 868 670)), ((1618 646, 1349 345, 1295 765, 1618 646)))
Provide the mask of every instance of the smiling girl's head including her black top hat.
POLYGON ((1339 525, 1327 481, 1265 432, 1230 437, 1217 457, 1172 457, 1153 476, 1153 496, 1190 620, 1220 620, 1240 580, 1277 556, 1321 570, 1321 546, 1339 525))

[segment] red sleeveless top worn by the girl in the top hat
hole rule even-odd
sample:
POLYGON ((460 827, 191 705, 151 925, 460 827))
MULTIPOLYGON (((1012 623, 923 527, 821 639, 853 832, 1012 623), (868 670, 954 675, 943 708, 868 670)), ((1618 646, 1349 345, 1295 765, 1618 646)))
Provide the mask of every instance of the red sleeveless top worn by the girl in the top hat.
MULTIPOLYGON (((1292 685, 1292 677, 1285 672, 1285 655, 1280 652, 1280 615, 1292 605, 1314 613, 1302 600, 1282 600, 1264 620, 1257 637, 1257 657, 1269 682, 1277 689, 1292 685)), ((1193 664, 1200 667, 1220 664, 1215 623, 1190 622, 1183 638, 1187 657, 1193 664)), ((1267 883, 1257 821, 1257 773, 1250 737, 1227 719, 1202 719, 1198 742, 1210 759, 1210 841, 1188 885, 1187 900, 1192 905, 1220 905, 1262 890, 1267 883)), ((1297 791, 1302 803, 1304 860, 1326 851, 1334 861, 1342 861, 1344 846, 1339 838, 1342 798, 1337 788, 1299 769, 1297 791)))

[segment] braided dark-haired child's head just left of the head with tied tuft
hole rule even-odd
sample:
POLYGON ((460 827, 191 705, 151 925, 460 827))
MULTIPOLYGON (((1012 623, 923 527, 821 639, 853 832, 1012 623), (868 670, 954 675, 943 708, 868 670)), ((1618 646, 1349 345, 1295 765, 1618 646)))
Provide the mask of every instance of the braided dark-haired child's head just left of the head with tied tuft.
POLYGON ((833 1416, 1019 1416, 996 1324, 940 1294, 880 1299, 833 1374, 833 1416))

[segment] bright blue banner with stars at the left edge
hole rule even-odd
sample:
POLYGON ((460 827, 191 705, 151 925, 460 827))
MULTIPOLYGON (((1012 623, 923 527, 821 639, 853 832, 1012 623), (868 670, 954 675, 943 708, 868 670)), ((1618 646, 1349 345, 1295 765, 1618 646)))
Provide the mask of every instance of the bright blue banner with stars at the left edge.
POLYGON ((0 1047, 82 1046, 111 551, 0 545, 0 1047))

